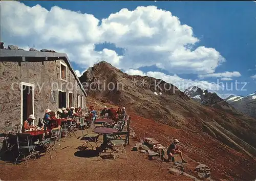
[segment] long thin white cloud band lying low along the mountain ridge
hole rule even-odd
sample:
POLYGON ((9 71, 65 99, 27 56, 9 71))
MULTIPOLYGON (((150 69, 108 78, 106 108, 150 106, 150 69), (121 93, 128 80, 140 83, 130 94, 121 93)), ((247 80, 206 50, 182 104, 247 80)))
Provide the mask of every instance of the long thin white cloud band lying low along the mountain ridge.
POLYGON ((161 72, 142 72, 140 70, 133 70, 129 69, 125 71, 126 74, 129 75, 140 75, 140 76, 149 76, 149 77, 154 77, 156 79, 162 79, 165 82, 171 83, 175 86, 177 86, 180 90, 185 90, 186 88, 190 86, 198 86, 202 89, 208 89, 210 91, 214 90, 221 90, 222 86, 218 85, 215 82, 207 82, 204 80, 190 80, 190 79, 182 79, 177 75, 171 76, 171 75, 166 75, 161 72))

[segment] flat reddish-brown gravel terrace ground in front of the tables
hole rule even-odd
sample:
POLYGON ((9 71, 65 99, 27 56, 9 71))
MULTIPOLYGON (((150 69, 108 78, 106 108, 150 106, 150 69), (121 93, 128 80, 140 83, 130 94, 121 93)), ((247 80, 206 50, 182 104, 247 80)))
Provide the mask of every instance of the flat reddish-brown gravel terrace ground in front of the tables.
MULTIPOLYGON (((81 131, 78 131, 78 136, 81 131)), ((102 136, 99 137, 102 141, 102 136)), ((168 173, 168 164, 147 160, 146 154, 132 152, 131 140, 126 147, 128 159, 105 159, 86 157, 93 151, 76 149, 83 141, 74 137, 57 146, 58 155, 49 160, 41 156, 28 165, 13 165, 0 161, 1 180, 189 180, 184 176, 168 173)), ((88 148, 91 149, 91 148, 88 148)), ((94 148, 95 149, 95 148, 94 148)))

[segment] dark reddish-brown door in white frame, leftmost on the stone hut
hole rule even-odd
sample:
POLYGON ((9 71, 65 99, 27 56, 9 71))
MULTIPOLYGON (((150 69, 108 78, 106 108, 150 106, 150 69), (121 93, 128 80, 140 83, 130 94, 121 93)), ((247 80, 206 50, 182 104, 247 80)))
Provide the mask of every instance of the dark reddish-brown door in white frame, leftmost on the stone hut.
POLYGON ((23 85, 23 122, 33 114, 33 87, 23 85))

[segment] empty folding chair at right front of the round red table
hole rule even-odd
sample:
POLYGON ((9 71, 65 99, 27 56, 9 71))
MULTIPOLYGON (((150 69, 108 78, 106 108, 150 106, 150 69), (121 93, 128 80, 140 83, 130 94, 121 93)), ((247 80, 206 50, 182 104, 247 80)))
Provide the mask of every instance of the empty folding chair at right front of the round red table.
POLYGON ((127 145, 127 135, 128 135, 127 131, 114 133, 114 136, 116 136, 117 139, 110 141, 110 144, 112 146, 111 153, 113 153, 114 159, 116 159, 116 157, 119 157, 120 155, 123 155, 123 154, 127 159, 127 154, 125 150, 127 145), (125 138, 122 138, 121 135, 125 135, 125 138))

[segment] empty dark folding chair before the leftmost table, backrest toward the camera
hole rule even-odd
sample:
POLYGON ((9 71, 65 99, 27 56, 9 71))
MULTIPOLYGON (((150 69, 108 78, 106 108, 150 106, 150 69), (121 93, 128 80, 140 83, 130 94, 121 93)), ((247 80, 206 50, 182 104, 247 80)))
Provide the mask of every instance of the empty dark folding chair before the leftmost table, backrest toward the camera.
POLYGON ((18 147, 19 154, 15 160, 15 164, 17 163, 18 158, 21 155, 24 156, 26 164, 28 164, 28 161, 31 156, 33 156, 36 160, 36 156, 34 155, 34 153, 36 153, 40 157, 39 153, 37 151, 35 151, 35 148, 37 147, 37 145, 30 144, 30 140, 29 140, 30 133, 16 133, 16 135, 17 135, 17 147, 18 147), (28 152, 25 152, 25 150, 27 150, 28 152))

